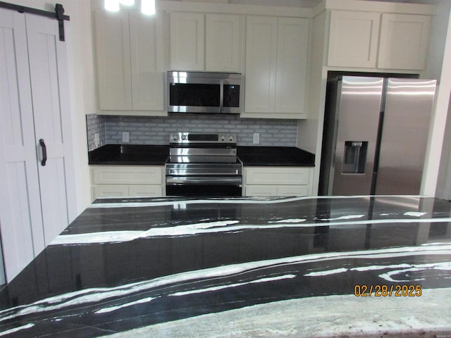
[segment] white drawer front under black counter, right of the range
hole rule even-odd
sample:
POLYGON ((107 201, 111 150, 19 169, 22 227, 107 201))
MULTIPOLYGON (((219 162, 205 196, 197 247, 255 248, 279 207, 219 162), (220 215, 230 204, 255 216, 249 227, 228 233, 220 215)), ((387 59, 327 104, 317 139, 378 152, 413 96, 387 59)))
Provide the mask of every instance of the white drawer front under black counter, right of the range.
POLYGON ((245 168, 246 184, 274 185, 308 185, 310 183, 310 168, 295 167, 252 167, 245 168))

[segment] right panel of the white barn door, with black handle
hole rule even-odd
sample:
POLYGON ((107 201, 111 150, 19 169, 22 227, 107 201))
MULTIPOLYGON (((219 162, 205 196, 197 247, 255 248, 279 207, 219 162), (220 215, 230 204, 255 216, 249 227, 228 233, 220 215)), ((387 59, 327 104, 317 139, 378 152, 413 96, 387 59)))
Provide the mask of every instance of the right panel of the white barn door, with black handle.
POLYGON ((44 249, 75 218, 73 146, 70 129, 66 43, 58 23, 26 14, 30 77, 35 116, 35 144, 44 223, 44 249), (42 165, 44 140, 47 162, 42 165))

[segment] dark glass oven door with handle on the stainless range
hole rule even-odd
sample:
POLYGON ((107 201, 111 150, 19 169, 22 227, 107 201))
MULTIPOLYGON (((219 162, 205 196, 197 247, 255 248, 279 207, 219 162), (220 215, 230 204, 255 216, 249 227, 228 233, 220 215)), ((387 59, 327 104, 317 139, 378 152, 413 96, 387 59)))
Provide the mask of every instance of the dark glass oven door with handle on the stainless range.
POLYGON ((166 196, 242 196, 242 177, 167 176, 166 196))

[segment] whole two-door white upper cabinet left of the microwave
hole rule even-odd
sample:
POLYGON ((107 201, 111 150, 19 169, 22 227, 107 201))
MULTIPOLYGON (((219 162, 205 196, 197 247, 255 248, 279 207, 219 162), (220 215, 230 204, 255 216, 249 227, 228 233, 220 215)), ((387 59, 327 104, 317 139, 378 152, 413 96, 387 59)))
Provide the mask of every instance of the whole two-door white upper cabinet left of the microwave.
POLYGON ((162 15, 149 17, 128 11, 94 11, 97 98, 101 111, 165 115, 161 18, 162 15))

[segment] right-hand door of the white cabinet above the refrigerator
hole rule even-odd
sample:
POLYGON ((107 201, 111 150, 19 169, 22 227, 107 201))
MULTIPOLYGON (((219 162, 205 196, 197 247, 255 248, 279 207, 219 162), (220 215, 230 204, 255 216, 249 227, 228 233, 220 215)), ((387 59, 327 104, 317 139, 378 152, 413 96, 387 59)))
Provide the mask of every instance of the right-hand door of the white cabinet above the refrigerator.
POLYGON ((383 14, 378 67, 424 69, 430 21, 428 15, 383 14))

